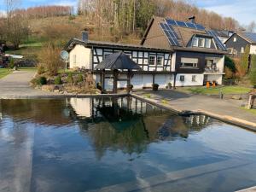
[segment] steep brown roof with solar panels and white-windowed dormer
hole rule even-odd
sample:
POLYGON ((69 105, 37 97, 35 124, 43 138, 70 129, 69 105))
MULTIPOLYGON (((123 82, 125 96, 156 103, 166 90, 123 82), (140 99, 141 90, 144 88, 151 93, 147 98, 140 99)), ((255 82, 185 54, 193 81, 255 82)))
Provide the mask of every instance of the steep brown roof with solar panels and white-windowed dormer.
MULTIPOLYGON (((223 34, 224 35, 224 34, 223 34)), ((207 29, 204 26, 201 26, 197 23, 184 22, 180 20, 172 20, 169 18, 162 17, 153 17, 150 21, 146 32, 143 35, 141 44, 147 44, 147 40, 154 42, 153 38, 158 38, 159 40, 166 41, 169 43, 170 49, 197 49, 201 52, 218 52, 226 53, 224 44, 218 38, 218 35, 212 30, 207 29), (161 33, 159 32, 161 31, 161 33), (154 31, 154 32, 151 32, 154 31), (163 38, 160 39, 160 36, 163 38), (189 46, 194 36, 202 36, 206 38, 212 38, 217 49, 208 49, 208 48, 195 48, 189 46)), ((160 43, 154 42, 154 44, 160 43)), ((163 45, 164 46, 164 45, 163 45)), ((167 47, 165 47, 166 49, 167 47)))

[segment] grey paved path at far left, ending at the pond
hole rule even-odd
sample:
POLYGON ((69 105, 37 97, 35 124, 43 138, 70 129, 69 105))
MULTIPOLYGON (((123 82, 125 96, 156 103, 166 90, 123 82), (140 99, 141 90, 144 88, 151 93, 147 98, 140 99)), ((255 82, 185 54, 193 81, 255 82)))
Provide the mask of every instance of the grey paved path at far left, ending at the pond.
POLYGON ((35 90, 30 87, 29 82, 33 79, 34 74, 34 72, 29 71, 16 71, 0 79, 0 99, 58 95, 42 90, 35 90))

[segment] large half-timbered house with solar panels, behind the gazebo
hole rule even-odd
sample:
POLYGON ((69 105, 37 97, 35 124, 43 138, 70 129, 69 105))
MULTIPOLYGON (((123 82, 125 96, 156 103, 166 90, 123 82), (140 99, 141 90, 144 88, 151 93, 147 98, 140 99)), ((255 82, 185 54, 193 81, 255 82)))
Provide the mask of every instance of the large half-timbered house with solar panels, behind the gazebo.
MULTIPOLYGON (((174 86, 200 86, 207 81, 222 84, 227 53, 224 44, 194 20, 153 17, 141 44, 91 41, 87 32, 82 37, 73 38, 65 48, 70 55, 70 67, 91 70, 96 82, 100 82, 96 65, 109 54, 123 51, 143 69, 133 73, 131 84, 135 89, 151 87, 153 82, 160 88, 166 88, 169 83, 174 86)), ((112 73, 107 79, 105 87, 112 89, 112 73)), ((119 79, 125 79, 125 72, 119 74, 119 79)), ((125 86, 125 82, 118 83, 119 88, 125 86)))

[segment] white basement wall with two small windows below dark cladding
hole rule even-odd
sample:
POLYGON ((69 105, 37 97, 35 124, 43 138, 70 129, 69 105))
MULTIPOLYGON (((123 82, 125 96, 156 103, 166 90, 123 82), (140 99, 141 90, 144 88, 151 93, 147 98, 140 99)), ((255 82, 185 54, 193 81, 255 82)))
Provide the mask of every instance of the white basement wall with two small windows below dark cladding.
POLYGON ((203 74, 177 74, 176 76, 176 86, 201 86, 204 82, 203 74), (184 76, 184 81, 180 81, 180 76, 184 76), (192 81, 192 76, 195 75, 195 82, 192 81))

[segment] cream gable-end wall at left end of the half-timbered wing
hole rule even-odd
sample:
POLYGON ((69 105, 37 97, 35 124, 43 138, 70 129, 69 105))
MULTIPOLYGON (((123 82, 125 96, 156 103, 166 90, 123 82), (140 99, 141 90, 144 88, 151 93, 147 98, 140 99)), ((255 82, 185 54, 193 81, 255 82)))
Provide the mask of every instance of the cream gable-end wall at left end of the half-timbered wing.
POLYGON ((77 44, 69 53, 69 67, 91 67, 91 50, 77 44))

